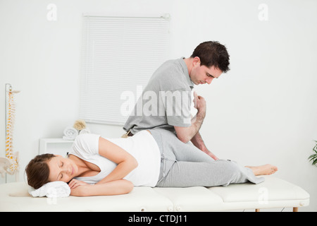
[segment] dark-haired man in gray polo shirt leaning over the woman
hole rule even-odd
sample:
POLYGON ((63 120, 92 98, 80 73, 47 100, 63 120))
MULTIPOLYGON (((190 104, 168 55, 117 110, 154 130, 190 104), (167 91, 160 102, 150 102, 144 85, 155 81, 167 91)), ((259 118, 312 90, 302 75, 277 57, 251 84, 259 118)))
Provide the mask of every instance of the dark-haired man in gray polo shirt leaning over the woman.
POLYGON ((123 129, 132 136, 144 129, 175 131, 180 141, 192 143, 213 159, 204 145, 199 129, 206 116, 206 102, 194 93, 197 114, 192 118, 192 88, 210 84, 213 78, 229 71, 229 54, 219 42, 199 44, 191 57, 166 61, 157 69, 144 88, 123 129))

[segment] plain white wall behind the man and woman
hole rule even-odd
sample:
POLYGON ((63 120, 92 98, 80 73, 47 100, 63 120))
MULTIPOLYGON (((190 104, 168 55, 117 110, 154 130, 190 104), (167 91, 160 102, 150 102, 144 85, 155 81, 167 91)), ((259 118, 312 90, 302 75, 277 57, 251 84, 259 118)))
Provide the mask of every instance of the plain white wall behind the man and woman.
MULTIPOLYGON (((317 139, 314 0, 0 0, 0 146, 4 84, 11 83, 21 90, 14 133, 20 180, 39 138, 61 137, 78 118, 82 12, 170 13, 171 59, 189 57, 206 40, 225 44, 231 71, 196 88, 208 105, 201 128, 207 147, 242 165, 277 165, 276 177, 311 194, 302 210, 317 210, 317 167, 307 161, 317 139), (51 3, 57 21, 46 19, 51 3), (260 4, 268 6, 267 21, 258 18, 260 4)), ((104 136, 123 133, 118 126, 89 127, 104 136)))

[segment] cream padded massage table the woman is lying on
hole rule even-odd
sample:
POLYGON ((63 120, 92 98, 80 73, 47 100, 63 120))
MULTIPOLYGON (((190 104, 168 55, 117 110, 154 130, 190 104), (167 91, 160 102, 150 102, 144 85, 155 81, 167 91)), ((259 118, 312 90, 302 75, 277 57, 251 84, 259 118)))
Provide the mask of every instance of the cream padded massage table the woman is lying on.
POLYGON ((309 206, 309 194, 277 177, 261 184, 187 188, 135 187, 129 194, 66 198, 28 196, 25 182, 0 185, 0 211, 197 212, 309 206))

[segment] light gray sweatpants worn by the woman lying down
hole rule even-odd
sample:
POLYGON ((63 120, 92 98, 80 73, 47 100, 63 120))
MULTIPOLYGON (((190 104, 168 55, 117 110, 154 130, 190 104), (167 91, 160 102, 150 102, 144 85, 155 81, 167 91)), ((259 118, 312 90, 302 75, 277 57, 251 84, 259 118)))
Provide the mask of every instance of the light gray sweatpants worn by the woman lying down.
POLYGON ((171 131, 151 129, 150 132, 161 151, 161 173, 156 186, 227 186, 264 181, 236 162, 213 160, 192 143, 182 143, 171 131))

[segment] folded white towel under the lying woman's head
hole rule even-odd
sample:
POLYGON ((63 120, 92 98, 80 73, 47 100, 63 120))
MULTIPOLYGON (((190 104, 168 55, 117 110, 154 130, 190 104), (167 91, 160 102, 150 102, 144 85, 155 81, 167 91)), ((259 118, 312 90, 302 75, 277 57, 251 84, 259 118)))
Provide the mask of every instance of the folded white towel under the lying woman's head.
POLYGON ((63 198, 70 195, 70 187, 66 182, 49 182, 36 190, 30 187, 29 194, 33 197, 63 198))

